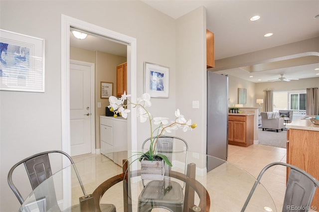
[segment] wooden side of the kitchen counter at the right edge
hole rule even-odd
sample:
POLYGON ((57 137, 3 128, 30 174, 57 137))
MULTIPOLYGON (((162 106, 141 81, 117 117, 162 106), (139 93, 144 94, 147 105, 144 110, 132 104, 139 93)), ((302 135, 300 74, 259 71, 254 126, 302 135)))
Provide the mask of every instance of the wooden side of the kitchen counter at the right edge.
MULTIPOLYGON (((319 179, 319 131, 290 128, 287 134, 289 140, 287 163, 297 166, 319 179)), ((319 209, 318 189, 311 206, 319 209)))

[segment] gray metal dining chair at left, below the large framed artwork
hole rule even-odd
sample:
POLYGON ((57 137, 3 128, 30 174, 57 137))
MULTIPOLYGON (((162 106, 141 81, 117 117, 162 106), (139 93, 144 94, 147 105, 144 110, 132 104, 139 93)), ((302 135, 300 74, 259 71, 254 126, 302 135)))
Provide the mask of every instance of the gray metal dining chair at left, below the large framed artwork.
MULTIPOLYGON (((22 198, 22 196, 21 196, 20 192, 18 191, 18 189, 16 188, 16 186, 13 184, 13 181, 12 181, 13 171, 19 165, 24 164, 24 167, 26 169, 26 173, 27 173, 28 178, 30 180, 32 190, 34 190, 42 182, 44 182, 45 180, 47 180, 49 177, 52 176, 51 164, 50 164, 50 160, 49 160, 49 154, 51 154, 51 153, 60 153, 64 156, 66 156, 70 160, 71 164, 74 167, 74 171, 75 171, 75 174, 76 174, 77 179, 79 181, 83 195, 87 196, 85 189, 84 189, 84 186, 83 186, 83 183, 81 181, 80 175, 78 173, 78 170, 76 169, 76 166, 74 164, 73 159, 67 153, 65 153, 63 151, 52 150, 52 151, 37 153, 37 154, 34 154, 30 157, 27 157, 27 158, 17 162, 16 164, 14 164, 14 166, 12 166, 12 168, 9 170, 8 177, 7 177, 9 187, 21 205, 23 204, 24 199, 22 198)), ((45 190, 43 190, 41 192, 43 192, 45 194, 45 196, 47 196, 46 200, 45 200, 46 201, 46 208, 53 210, 53 211, 56 211, 56 212, 61 211, 59 206, 58 206, 57 200, 56 200, 53 181, 48 182, 48 184, 45 185, 44 187, 45 188, 43 188, 43 189, 45 189, 45 190)), ((87 205, 86 205, 86 207, 87 207, 87 205)), ((82 206, 82 211, 83 211, 83 208, 84 208, 84 205, 82 206)), ((104 206, 101 206, 101 209, 102 209, 102 211, 105 211, 105 212, 116 212, 115 206, 112 204, 104 204, 104 206)), ((81 211, 81 206, 80 205, 72 206, 72 211, 81 211)))

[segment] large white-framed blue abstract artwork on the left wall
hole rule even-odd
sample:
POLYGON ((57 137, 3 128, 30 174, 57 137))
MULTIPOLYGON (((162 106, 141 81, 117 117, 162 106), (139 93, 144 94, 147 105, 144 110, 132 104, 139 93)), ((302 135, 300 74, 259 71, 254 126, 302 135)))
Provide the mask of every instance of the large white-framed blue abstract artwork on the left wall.
POLYGON ((44 39, 0 29, 0 90, 44 92, 44 39))

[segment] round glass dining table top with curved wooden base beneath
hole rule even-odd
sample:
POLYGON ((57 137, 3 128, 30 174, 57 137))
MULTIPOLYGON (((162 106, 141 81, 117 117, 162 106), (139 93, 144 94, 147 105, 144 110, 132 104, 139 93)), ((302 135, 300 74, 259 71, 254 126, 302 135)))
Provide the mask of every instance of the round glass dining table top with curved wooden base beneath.
MULTIPOLYGON (((40 184, 25 199, 19 212, 79 211, 80 207, 74 206, 83 204, 85 198, 94 202, 96 211, 100 211, 101 204, 112 204, 117 212, 137 212, 144 186, 140 162, 134 161, 137 158, 136 152, 139 151, 114 152, 107 154, 109 157, 87 155, 81 159, 74 158, 75 167, 65 167, 40 184), (131 161, 128 169, 116 160, 119 155, 127 156, 128 161, 131 161), (80 175, 86 196, 83 195, 75 169, 80 175)), ((252 175, 240 167, 205 154, 173 152, 170 161, 172 167, 165 180, 180 183, 185 196, 188 196, 188 191, 194 193, 190 196, 193 197, 192 211, 239 212, 256 182, 252 175), (187 165, 195 166, 194 180, 189 180, 185 174, 187 165), (187 185, 192 189, 185 189, 187 185)), ((277 210, 268 191, 262 184, 258 184, 245 211, 277 210)))

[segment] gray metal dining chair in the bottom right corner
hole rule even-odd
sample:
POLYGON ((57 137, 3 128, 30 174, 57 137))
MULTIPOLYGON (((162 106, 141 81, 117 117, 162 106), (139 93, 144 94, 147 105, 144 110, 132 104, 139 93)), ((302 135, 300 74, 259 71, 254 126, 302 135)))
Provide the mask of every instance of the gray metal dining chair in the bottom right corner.
POLYGON ((311 176, 309 173, 304 170, 293 166, 287 163, 275 162, 268 164, 265 168, 263 168, 260 174, 257 177, 257 181, 253 185, 248 198, 241 210, 244 212, 249 204, 251 197, 254 194, 254 191, 258 184, 260 184, 260 179, 265 173, 267 169, 272 166, 281 165, 290 168, 290 174, 287 182, 286 193, 284 198, 283 212, 291 212, 294 211, 294 208, 302 208, 307 209, 310 208, 310 204, 314 198, 317 187, 319 187, 319 181, 311 176))

